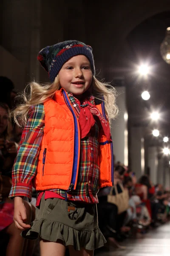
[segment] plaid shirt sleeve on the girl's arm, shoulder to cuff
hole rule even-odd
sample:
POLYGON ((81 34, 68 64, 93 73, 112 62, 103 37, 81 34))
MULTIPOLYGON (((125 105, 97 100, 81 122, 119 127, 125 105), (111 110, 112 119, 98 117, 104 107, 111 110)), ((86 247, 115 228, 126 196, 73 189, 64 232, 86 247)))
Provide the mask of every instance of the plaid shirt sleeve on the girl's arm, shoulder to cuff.
POLYGON ((37 171, 37 161, 45 124, 44 105, 32 106, 28 112, 28 121, 23 129, 17 157, 12 170, 10 198, 28 197, 31 201, 32 182, 37 171))

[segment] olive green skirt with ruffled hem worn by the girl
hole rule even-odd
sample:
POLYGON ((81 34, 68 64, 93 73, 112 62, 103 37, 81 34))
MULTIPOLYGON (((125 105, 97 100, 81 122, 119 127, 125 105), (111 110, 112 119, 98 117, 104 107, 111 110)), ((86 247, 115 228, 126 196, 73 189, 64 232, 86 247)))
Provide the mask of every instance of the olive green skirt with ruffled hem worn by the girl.
POLYGON ((94 250, 102 247, 106 240, 98 227, 96 204, 83 204, 59 198, 41 198, 36 207, 35 220, 31 228, 22 236, 28 239, 41 239, 57 242, 65 246, 73 245, 75 250, 94 250))

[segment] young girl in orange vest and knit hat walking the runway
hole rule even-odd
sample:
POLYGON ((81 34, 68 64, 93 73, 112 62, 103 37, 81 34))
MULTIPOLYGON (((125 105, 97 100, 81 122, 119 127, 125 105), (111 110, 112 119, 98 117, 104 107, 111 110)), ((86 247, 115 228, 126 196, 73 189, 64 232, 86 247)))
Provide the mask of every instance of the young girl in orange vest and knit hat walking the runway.
POLYGON ((93 255, 105 238, 98 227, 97 192, 113 184, 108 118, 116 115, 114 89, 95 78, 92 48, 64 41, 38 55, 51 84, 31 84, 31 95, 14 111, 23 130, 10 197, 23 236, 40 237, 41 256, 93 255), (33 223, 26 225, 23 197, 36 188, 33 223))

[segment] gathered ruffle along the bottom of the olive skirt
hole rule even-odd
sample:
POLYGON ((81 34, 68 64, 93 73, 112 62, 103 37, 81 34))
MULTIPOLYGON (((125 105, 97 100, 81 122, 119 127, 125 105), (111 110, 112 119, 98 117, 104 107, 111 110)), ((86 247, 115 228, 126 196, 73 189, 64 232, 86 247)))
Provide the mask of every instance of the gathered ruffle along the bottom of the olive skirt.
POLYGON ((41 239, 56 242, 58 239, 63 241, 65 246, 73 245, 75 250, 85 248, 86 250, 95 250, 102 247, 105 243, 105 237, 99 228, 91 231, 76 230, 57 221, 40 218, 31 223, 31 228, 24 230, 22 236, 27 239, 41 239))

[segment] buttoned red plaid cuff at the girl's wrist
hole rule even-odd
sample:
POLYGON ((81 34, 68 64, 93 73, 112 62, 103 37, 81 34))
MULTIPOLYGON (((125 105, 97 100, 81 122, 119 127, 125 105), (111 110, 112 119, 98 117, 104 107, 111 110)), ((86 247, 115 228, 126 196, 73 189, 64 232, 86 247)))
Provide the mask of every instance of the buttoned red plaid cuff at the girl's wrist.
POLYGON ((12 184, 9 198, 13 199, 15 196, 27 197, 29 201, 32 198, 32 186, 27 183, 12 184))

